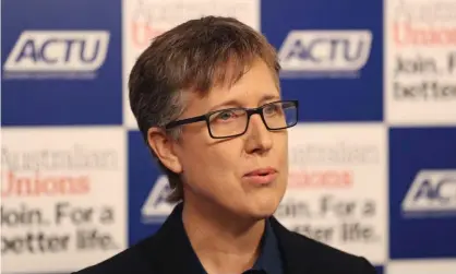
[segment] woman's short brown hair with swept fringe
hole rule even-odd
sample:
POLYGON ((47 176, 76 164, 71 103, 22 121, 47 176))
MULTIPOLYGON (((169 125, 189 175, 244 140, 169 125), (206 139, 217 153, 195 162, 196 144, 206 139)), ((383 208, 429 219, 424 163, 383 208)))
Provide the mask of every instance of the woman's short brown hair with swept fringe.
MULTIPOLYGON (((280 65, 274 47, 233 17, 191 20, 157 36, 136 60, 129 80, 130 107, 146 143, 151 127, 164 128, 181 116, 182 92, 204 96, 214 86, 232 85, 259 58, 278 83, 280 65)), ((169 134, 179 136, 176 131, 169 134)), ((172 189, 168 201, 182 200, 180 176, 158 164, 172 189)))

